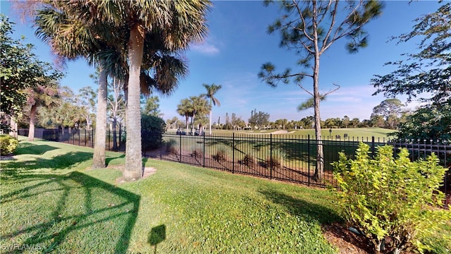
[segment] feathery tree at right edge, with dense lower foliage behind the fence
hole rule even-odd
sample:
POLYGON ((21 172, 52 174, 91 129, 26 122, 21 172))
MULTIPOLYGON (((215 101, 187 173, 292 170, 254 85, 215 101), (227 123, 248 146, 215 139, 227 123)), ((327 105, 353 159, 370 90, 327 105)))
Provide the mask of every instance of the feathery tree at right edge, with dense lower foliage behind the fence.
POLYGON ((418 52, 404 54, 405 59, 388 62, 395 71, 375 75, 374 95, 407 95, 428 102, 402 123, 397 138, 409 140, 443 139, 451 136, 451 3, 433 13, 415 19, 412 32, 393 37, 398 43, 420 39, 418 52))

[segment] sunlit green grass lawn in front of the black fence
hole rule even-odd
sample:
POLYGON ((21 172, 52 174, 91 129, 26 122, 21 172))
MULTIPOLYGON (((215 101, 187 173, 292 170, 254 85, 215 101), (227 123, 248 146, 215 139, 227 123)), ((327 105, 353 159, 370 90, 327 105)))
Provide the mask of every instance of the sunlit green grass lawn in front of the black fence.
POLYGON ((121 153, 98 170, 86 147, 21 140, 17 153, 0 165, 2 252, 335 252, 326 190, 150 159, 155 174, 118 184, 121 153))

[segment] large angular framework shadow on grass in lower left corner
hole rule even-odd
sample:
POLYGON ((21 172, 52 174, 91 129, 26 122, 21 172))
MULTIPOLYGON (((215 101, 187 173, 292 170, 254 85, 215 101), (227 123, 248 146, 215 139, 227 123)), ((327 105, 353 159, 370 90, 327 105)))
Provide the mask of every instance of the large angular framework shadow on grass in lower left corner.
POLYGON ((43 253, 87 253, 96 248, 101 253, 126 253, 139 195, 78 171, 66 175, 21 171, 2 183, 11 188, 0 196, 3 219, 11 222, 0 236, 3 246, 14 246, 8 253, 30 246, 43 253), (14 180, 29 182, 11 188, 8 182, 14 180), (14 222, 20 218, 23 222, 14 222))

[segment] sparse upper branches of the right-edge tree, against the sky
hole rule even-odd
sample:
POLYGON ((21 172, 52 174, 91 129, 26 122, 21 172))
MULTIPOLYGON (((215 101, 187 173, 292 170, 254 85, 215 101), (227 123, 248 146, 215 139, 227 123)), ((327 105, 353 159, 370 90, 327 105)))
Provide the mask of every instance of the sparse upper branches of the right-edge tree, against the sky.
POLYGON ((407 95, 409 100, 426 95, 434 104, 450 103, 451 99, 451 3, 440 6, 434 13, 416 18, 412 32, 393 37, 398 43, 421 38, 419 52, 404 54, 407 59, 385 63, 395 66, 386 75, 374 75, 371 85, 374 95, 386 97, 407 95), (429 93, 432 96, 429 97, 429 93))

